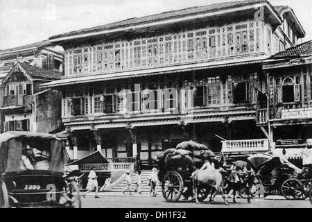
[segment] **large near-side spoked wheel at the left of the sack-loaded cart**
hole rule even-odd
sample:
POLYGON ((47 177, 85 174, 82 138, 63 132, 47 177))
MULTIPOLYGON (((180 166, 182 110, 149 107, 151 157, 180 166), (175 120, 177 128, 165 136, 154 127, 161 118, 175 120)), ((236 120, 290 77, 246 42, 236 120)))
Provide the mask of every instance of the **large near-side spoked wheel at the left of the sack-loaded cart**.
POLYGON ((162 182, 162 195, 170 203, 176 203, 184 190, 184 182, 179 173, 168 171, 162 182))

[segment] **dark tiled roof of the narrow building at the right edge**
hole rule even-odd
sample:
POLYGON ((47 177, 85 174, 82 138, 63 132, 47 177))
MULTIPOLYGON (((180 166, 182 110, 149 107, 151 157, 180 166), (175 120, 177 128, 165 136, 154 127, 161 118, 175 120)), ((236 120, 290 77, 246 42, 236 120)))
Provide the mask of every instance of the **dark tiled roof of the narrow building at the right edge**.
POLYGON ((304 56, 312 56, 312 40, 297 46, 293 46, 290 49, 286 49, 285 51, 281 51, 280 53, 272 56, 271 59, 297 58, 304 56))

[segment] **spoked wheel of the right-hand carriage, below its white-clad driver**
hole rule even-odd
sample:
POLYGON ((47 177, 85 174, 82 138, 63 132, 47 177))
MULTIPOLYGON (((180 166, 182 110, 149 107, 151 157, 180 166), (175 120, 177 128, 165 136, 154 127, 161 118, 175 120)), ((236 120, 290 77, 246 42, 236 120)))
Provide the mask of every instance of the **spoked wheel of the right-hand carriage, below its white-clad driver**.
POLYGON ((281 185, 281 194, 287 200, 299 200, 304 194, 304 186, 297 179, 288 179, 281 185))

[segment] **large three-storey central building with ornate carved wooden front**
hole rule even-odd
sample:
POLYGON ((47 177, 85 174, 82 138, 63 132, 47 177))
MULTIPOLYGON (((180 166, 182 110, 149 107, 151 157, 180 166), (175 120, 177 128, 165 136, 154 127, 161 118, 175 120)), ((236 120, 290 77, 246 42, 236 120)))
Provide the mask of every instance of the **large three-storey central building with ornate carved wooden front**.
POLYGON ((285 32, 283 21, 293 19, 268 1, 239 1, 55 35, 65 76, 40 87, 62 92, 77 159, 101 151, 150 165, 189 139, 215 152, 265 152, 261 62, 305 35, 299 22, 285 32))

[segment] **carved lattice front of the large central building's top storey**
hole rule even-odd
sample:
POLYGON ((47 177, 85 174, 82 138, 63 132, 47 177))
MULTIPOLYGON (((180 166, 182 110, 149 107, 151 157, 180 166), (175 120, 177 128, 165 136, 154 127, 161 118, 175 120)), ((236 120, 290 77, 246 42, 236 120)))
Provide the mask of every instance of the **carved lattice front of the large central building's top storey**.
POLYGON ((263 48, 261 32, 262 22, 244 21, 200 28, 186 26, 155 36, 96 42, 67 49, 65 74, 105 74, 259 53, 263 48))

